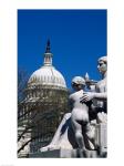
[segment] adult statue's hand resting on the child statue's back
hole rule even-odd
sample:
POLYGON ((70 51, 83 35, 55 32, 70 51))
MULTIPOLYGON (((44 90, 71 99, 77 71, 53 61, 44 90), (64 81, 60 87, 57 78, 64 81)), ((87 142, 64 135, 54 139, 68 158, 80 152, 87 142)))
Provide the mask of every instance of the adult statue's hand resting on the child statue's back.
POLYGON ((85 92, 85 93, 83 93, 83 96, 80 98, 80 102, 85 103, 85 102, 93 100, 93 97, 94 97, 94 93, 85 92))

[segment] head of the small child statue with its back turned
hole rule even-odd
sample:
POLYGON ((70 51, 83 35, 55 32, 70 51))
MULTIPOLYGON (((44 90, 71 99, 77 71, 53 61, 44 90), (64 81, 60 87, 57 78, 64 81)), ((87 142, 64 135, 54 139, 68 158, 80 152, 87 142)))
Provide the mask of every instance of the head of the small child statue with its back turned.
POLYGON ((72 87, 74 90, 81 90, 85 86, 85 80, 82 76, 74 76, 72 79, 72 87))

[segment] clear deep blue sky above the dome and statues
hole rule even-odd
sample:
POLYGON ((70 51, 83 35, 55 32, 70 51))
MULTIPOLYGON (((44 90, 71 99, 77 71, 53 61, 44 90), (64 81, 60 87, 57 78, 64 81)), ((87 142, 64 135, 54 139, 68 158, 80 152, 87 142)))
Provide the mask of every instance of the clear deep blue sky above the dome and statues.
POLYGON ((18 10, 18 68, 31 75, 43 64, 48 39, 53 65, 68 87, 87 72, 100 80, 97 59, 107 54, 106 10, 18 10))

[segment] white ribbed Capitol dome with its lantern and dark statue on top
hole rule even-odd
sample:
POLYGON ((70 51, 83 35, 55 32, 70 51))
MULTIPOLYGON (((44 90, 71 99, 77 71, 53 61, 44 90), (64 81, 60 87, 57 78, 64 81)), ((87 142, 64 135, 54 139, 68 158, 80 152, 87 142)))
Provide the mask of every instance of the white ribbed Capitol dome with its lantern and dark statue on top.
POLYGON ((52 53, 50 52, 50 41, 44 53, 44 64, 30 76, 28 86, 50 85, 51 87, 66 89, 63 75, 52 65, 52 53))

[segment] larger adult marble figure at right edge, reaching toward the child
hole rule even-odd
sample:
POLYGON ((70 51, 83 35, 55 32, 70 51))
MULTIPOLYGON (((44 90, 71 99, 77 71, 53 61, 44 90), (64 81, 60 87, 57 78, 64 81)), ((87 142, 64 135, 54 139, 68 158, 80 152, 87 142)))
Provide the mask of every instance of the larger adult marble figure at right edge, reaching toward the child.
POLYGON ((97 123, 106 122, 106 103, 107 103, 107 93, 106 93, 106 75, 107 75, 107 58, 102 56, 99 59, 97 69, 102 74, 102 80, 95 85, 95 92, 86 92, 81 97, 81 102, 93 101, 92 111, 96 111, 97 123))

